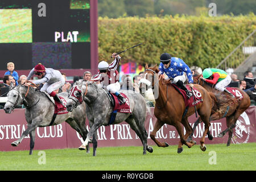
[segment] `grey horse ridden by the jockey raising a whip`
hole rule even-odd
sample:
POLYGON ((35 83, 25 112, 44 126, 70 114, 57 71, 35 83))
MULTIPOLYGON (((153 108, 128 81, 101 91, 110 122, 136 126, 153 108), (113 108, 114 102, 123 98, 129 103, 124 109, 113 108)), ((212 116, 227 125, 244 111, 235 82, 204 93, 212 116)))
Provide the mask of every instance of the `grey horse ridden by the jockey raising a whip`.
MULTIPOLYGON (((109 125, 110 117, 114 108, 106 96, 105 90, 94 83, 94 81, 77 81, 76 84, 73 85, 71 92, 74 90, 74 87, 77 89, 73 96, 75 96, 77 100, 81 100, 82 97, 82 100, 86 103, 86 115, 90 125, 87 138, 79 147, 80 150, 84 150, 85 147, 88 146, 88 142, 92 137, 94 143, 94 136, 97 129, 102 125, 109 125)), ((130 125, 131 129, 133 129, 141 139, 143 144, 143 155, 146 154, 146 150, 148 152, 152 152, 153 148, 151 146, 147 146, 147 131, 144 127, 147 111, 144 98, 141 94, 135 93, 131 90, 122 90, 122 93, 125 93, 130 101, 131 113, 117 113, 112 124, 114 125, 126 121, 130 125)), ((72 97, 72 93, 69 93, 69 99, 67 102, 68 111, 72 111, 74 107, 81 103, 77 102, 77 100, 72 97)), ((93 156, 96 155, 96 148, 97 144, 95 146, 93 145, 93 156)))

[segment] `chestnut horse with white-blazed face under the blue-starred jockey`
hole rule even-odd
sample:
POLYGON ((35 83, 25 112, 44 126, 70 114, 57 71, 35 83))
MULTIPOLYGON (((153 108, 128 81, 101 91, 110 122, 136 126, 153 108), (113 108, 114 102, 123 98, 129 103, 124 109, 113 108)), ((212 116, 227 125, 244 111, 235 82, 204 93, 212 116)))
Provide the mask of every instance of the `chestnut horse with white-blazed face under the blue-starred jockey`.
MULTIPOLYGON (((174 88, 170 83, 164 83, 162 75, 158 74, 159 69, 157 65, 155 67, 148 68, 146 65, 145 77, 142 78, 141 83, 146 84, 147 88, 152 86, 154 92, 158 92, 158 96, 155 97, 155 109, 154 114, 157 118, 153 131, 150 133, 150 138, 158 145, 158 147, 168 147, 168 143, 159 142, 155 138, 156 132, 166 123, 168 125, 175 126, 177 132, 180 135, 180 142, 177 148, 177 152, 183 151, 182 145, 185 144, 188 148, 195 145, 195 141, 187 142, 187 137, 192 133, 192 127, 188 123, 188 117, 195 113, 195 107, 189 107, 187 113, 185 112, 185 102, 183 96, 174 88), (160 76, 160 77, 159 77, 160 76), (151 77, 151 78, 150 78, 151 77), (159 88, 156 88, 156 87, 159 88), (186 134, 184 135, 183 126, 185 127, 186 134)), ((210 109, 212 108, 212 101, 207 90, 203 86, 195 85, 195 88, 201 93, 203 102, 196 105, 196 110, 205 123, 205 131, 203 137, 200 140, 200 148, 202 151, 206 150, 205 136, 209 133, 209 118, 210 109)))

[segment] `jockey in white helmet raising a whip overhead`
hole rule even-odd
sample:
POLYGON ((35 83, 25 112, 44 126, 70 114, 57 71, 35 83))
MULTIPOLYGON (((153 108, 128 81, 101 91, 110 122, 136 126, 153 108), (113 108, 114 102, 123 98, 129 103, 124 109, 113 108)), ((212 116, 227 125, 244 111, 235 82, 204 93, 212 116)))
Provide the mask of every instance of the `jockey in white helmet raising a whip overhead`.
POLYGON ((102 88, 106 88, 109 92, 115 93, 115 95, 122 102, 122 105, 125 104, 126 99, 119 93, 121 86, 118 82, 119 76, 117 71, 117 67, 120 63, 121 57, 116 53, 113 53, 112 57, 114 57, 115 59, 111 64, 108 64, 106 61, 101 61, 98 64, 98 70, 100 72, 98 72, 98 74, 92 80, 100 81, 102 88))

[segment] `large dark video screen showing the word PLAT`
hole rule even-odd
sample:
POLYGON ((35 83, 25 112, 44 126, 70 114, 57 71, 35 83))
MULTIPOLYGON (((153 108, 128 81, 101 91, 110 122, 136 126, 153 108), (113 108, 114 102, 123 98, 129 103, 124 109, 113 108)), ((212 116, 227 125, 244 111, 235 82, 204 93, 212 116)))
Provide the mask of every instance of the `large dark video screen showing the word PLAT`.
POLYGON ((0 70, 90 69, 90 0, 1 0, 0 70))

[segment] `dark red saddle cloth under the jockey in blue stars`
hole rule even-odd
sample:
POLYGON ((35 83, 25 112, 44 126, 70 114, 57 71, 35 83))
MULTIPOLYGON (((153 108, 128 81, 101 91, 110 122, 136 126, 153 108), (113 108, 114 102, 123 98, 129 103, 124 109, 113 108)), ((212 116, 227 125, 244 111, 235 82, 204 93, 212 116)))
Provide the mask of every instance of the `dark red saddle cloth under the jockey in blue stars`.
MULTIPOLYGON (((188 99, 187 94, 185 93, 185 91, 180 89, 177 85, 172 84, 172 86, 174 86, 174 88, 183 96, 184 102, 185 102, 185 107, 192 107, 192 106, 195 106, 195 105, 199 104, 200 102, 203 102, 202 95, 199 92, 199 90, 197 90, 196 88, 193 88, 193 95, 195 97, 195 101, 194 101, 193 96, 188 99)), ((189 91, 191 91, 191 87, 189 85, 186 85, 186 88, 189 91)))

